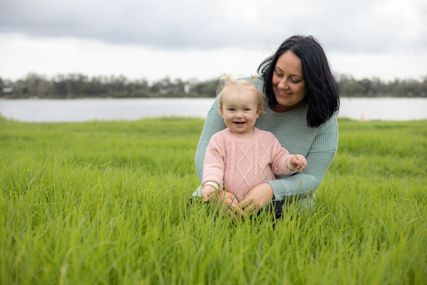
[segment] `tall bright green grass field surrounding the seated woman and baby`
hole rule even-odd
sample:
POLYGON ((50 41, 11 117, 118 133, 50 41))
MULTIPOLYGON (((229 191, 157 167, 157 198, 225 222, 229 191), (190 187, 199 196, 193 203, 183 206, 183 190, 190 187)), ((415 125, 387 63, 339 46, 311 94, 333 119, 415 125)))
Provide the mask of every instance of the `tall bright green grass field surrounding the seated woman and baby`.
POLYGON ((316 211, 275 228, 187 207, 202 126, 0 117, 0 283, 427 284, 426 120, 339 120, 316 211))

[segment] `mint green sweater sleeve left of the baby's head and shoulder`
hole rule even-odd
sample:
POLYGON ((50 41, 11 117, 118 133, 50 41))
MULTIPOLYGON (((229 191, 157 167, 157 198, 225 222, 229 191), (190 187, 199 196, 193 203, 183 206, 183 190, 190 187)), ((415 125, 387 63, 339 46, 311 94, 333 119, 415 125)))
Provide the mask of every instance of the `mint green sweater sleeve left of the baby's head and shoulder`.
POLYGON ((205 161, 206 149, 208 144, 214 135, 214 133, 221 131, 226 128, 224 120, 219 112, 219 103, 217 100, 214 101, 212 108, 206 115, 205 124, 200 135, 199 144, 196 150, 196 172, 199 177, 199 182, 203 180, 203 164, 205 161))

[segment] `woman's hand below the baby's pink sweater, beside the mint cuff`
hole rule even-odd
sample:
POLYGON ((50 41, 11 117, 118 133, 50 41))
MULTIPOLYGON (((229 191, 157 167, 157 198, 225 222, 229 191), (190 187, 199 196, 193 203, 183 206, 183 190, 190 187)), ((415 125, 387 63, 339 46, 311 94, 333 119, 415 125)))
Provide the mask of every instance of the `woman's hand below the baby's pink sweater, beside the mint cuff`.
POLYGON ((255 214, 274 199, 273 189, 268 183, 262 183, 249 190, 245 199, 236 206, 246 215, 255 214))

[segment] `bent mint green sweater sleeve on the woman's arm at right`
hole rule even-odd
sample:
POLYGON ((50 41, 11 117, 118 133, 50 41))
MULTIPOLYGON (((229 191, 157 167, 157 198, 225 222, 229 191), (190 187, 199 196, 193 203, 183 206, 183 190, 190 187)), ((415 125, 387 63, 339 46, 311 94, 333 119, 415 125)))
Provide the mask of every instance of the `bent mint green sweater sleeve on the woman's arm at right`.
POLYGON ((304 173, 296 172, 291 176, 281 176, 268 181, 279 201, 293 201, 312 196, 319 187, 327 169, 332 163, 338 147, 338 124, 332 116, 320 125, 308 154, 307 168, 304 173))

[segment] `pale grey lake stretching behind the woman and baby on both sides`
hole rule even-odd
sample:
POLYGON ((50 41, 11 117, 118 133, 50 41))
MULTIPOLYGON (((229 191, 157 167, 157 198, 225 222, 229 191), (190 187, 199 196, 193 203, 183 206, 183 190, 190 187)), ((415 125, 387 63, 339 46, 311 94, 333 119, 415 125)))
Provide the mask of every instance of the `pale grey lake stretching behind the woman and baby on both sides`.
MULTIPOLYGON (((0 115, 23 122, 204 118, 214 98, 0 99, 0 115)), ((427 119, 427 98, 341 98, 338 117, 356 120, 427 119)))

